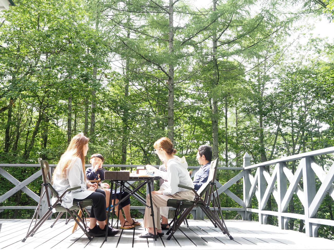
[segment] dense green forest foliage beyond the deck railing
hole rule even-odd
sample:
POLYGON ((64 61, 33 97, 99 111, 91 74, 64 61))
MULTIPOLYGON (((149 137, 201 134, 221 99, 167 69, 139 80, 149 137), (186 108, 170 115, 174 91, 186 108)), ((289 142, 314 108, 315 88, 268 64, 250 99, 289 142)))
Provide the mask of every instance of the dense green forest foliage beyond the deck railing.
MULTIPOLYGON (((320 38, 292 46, 287 39, 306 12, 332 18, 333 1, 303 1, 297 13, 285 11, 287 1, 216 3, 198 10, 186 1, 21 0, 1 11, 0 163, 42 157, 56 164, 68 138, 83 132, 91 138, 88 155, 101 153, 106 164, 158 165, 153 144, 169 134, 171 120, 174 146, 190 166, 198 164, 198 146, 212 145, 215 135, 221 166, 242 166, 245 152, 259 163, 332 146, 333 46, 320 38)), ((330 160, 318 162, 326 168, 330 160)), ((36 171, 5 169, 20 181, 36 171)), ((232 176, 222 170, 217 179, 232 176)), ((12 187, 1 177, 0 196, 12 187)), ((39 194, 40 180, 29 188, 39 194)), ((242 197, 242 183, 231 191, 242 197)), ((220 199, 223 207, 239 207, 220 199)), ((289 211, 302 213, 295 195, 293 202, 289 211)), ((331 202, 326 196, 319 218, 332 219, 331 202)), ((36 202, 18 192, 1 205, 18 204, 36 202)), ((269 209, 277 209, 272 197, 269 209)), ((290 227, 301 223, 291 220, 290 227)), ((319 234, 325 230, 332 228, 319 234)))

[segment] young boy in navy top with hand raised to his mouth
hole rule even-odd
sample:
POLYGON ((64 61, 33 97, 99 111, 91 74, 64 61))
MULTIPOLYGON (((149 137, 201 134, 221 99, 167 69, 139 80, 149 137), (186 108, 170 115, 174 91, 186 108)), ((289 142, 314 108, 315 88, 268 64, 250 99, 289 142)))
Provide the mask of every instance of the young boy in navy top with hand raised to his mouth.
MULTIPOLYGON (((92 167, 89 167, 86 169, 86 177, 87 180, 101 180, 103 181, 104 178, 104 170, 102 168, 102 164, 104 162, 104 157, 101 154, 93 154, 91 156, 91 159, 89 161, 92 164, 92 167)), ((109 205, 109 197, 110 197, 110 186, 108 183, 98 183, 99 186, 101 186, 102 188, 104 188, 104 191, 106 193, 106 207, 108 207, 109 205)), ((128 195, 129 193, 127 192, 122 192, 122 197, 128 195)), ((120 198, 120 192, 117 191, 116 192, 116 203, 119 202, 119 198, 120 198)), ((113 190, 112 193, 112 204, 114 203, 114 196, 115 196, 115 190, 113 190)), ((141 223, 138 221, 135 221, 131 218, 130 215, 130 197, 128 197, 125 201, 123 201, 122 203, 119 204, 121 206, 121 208, 123 209, 123 212, 125 214, 125 218, 123 217, 122 211, 120 211, 120 223, 121 223, 121 227, 123 229, 130 229, 133 228, 135 226, 140 226, 141 223)), ((115 212, 118 210, 118 206, 115 207, 115 212)), ((117 216, 117 213, 115 213, 117 216)))

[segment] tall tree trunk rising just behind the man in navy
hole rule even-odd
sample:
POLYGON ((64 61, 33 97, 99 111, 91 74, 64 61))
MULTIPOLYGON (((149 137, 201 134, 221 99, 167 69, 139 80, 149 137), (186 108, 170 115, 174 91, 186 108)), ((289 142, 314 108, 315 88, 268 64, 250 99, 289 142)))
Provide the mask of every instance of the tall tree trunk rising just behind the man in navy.
MULTIPOLYGON (((216 0, 213 0, 212 11, 216 11, 216 0)), ((213 55, 213 63, 214 69, 212 74, 212 89, 215 88, 218 84, 218 67, 216 62, 216 54, 217 54, 217 30, 215 23, 212 25, 212 55, 213 55)), ((212 93, 212 116, 211 116, 211 125, 212 125, 212 158, 215 159, 218 157, 218 100, 217 97, 212 93)))

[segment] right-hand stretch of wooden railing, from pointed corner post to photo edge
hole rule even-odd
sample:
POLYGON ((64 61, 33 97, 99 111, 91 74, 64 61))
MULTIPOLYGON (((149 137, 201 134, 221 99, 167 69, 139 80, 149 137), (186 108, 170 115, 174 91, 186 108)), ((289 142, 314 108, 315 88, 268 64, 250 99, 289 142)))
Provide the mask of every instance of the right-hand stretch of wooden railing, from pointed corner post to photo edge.
POLYGON ((248 219, 250 213, 259 214, 259 221, 267 224, 268 215, 278 217, 278 224, 281 229, 288 229, 290 218, 303 220, 305 223, 305 233, 310 237, 318 236, 318 228, 321 225, 334 226, 334 220, 318 219, 317 211, 325 195, 334 199, 334 164, 324 170, 319 166, 315 156, 334 153, 334 147, 315 150, 307 153, 283 157, 280 159, 262 162, 251 165, 248 154, 244 156, 244 177, 243 177, 243 201, 245 208, 245 218, 248 219), (299 165, 293 174, 287 163, 299 161, 299 165), (267 166, 274 169, 267 171, 267 166), (316 191, 316 176, 321 182, 321 186, 316 191), (303 188, 300 185, 303 180, 303 188), (289 181, 289 185, 287 184, 289 181), (296 193, 304 207, 304 214, 288 213, 288 205, 292 195, 296 193), (252 197, 256 195, 258 209, 252 209, 252 197), (278 211, 268 211, 266 209, 269 196, 273 194, 278 204, 278 211))

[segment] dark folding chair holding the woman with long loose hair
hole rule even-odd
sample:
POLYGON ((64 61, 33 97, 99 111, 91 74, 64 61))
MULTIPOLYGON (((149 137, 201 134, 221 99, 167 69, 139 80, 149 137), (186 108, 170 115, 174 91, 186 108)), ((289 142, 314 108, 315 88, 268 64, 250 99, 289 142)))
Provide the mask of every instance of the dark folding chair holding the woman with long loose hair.
MULTIPOLYGON (((42 186, 44 187, 44 191, 43 191, 43 195, 46 195, 46 200, 47 200, 47 205, 48 205, 48 211, 39 219, 39 221, 37 222, 37 217, 38 217, 38 212, 34 214, 34 217, 36 216, 36 221, 35 221, 35 225, 34 227, 30 230, 30 226, 28 229, 28 233, 27 235, 22 239, 22 242, 25 242, 25 240, 29 237, 29 236, 33 236, 37 230, 42 226, 42 224, 47 220, 47 218, 52 214, 52 209, 55 209, 56 212, 60 212, 60 214, 58 214, 56 221, 60 218, 61 214, 63 212, 67 212, 70 217, 75 221, 75 223, 78 224, 78 226, 82 229, 82 231, 86 234, 86 236, 88 237, 89 240, 92 240, 92 237, 87 233, 87 227, 85 222, 80 218, 80 216, 75 212, 75 210, 81 210, 85 207, 88 206, 92 206, 93 205, 93 201, 90 199, 87 200, 82 200, 82 201, 75 201, 73 202, 73 206, 70 208, 65 208, 63 206, 61 206, 61 198, 69 191, 75 190, 80 188, 80 186, 77 187, 71 187, 68 188, 65 192, 63 192, 60 196, 58 194, 58 192, 52 187, 51 185, 51 178, 50 178, 50 173, 49 173, 49 164, 47 161, 43 161, 41 158, 38 158, 38 163, 41 166, 41 170, 42 170, 42 178, 43 178, 43 184, 42 186), (54 197, 57 198, 56 202, 54 202, 53 204, 51 204, 50 202, 50 196, 49 196, 49 190, 51 191, 51 193, 53 194, 54 197), (60 216, 59 216, 60 215, 60 216), (78 220, 75 219, 75 216, 78 218, 78 220), (80 224, 80 222, 82 223, 82 225, 80 224), (29 231, 30 230, 30 231, 29 231)), ((40 199, 41 201, 41 199, 40 199)), ((40 205, 40 204, 38 204, 40 205)), ((37 209, 36 209, 37 211, 37 209)), ((33 217, 33 219, 34 219, 33 217)), ((31 223, 30 223, 31 225, 31 223)), ((51 225, 51 227, 54 225, 54 223, 51 225)))

